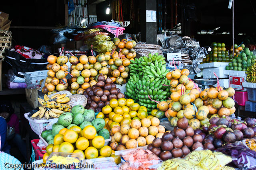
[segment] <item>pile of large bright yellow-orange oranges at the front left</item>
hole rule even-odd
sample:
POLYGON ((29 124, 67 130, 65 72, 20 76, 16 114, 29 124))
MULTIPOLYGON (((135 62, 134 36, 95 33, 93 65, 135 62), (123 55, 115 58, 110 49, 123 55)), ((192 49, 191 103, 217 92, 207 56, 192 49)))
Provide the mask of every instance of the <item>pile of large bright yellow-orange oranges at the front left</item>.
POLYGON ((64 128, 55 135, 54 144, 46 147, 43 161, 46 162, 52 152, 77 153, 80 160, 110 156, 118 160, 118 156, 112 155, 114 150, 108 145, 104 146, 104 144, 104 137, 98 136, 92 125, 84 127, 83 130, 78 126, 72 126, 70 129, 64 128))

